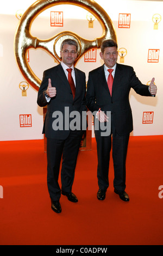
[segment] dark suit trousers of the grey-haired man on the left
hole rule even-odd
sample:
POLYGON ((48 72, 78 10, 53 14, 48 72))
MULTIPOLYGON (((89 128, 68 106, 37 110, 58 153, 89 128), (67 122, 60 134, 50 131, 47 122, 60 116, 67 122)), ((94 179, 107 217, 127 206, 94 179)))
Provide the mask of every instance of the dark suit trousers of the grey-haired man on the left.
POLYGON ((70 131, 66 139, 47 138, 47 186, 53 201, 59 200, 61 190, 71 192, 82 131, 70 131), (58 183, 60 163, 61 189, 58 183))

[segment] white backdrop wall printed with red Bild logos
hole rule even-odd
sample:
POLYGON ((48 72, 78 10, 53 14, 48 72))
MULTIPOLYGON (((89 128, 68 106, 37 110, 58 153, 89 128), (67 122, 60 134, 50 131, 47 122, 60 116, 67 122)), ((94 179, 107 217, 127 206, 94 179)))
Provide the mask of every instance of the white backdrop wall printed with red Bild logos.
MULTIPOLYGON (((34 2, 34 0, 8 0, 3 2, 0 8, 0 141, 43 138, 43 110, 36 103, 37 91, 29 86, 27 96, 22 96, 19 84, 25 80, 14 57, 14 36, 19 22, 16 13, 18 10, 25 11, 34 2), (32 127, 20 127, 20 115, 28 114, 32 117, 32 127)), ((114 0, 114 4, 111 4, 109 0, 97 0, 96 2, 108 13, 114 23, 118 49, 127 49, 124 64, 134 67, 142 83, 147 84, 152 77, 155 77, 155 83, 158 86, 158 94, 154 98, 142 97, 131 89, 130 104, 134 119, 134 131, 131 135, 162 135, 163 20, 159 23, 158 30, 154 30, 152 16, 160 14, 163 17, 163 2, 130 0, 114 0), (131 15, 130 28, 118 28, 119 14, 131 15), (149 49, 160 50, 158 63, 148 63, 149 49), (142 124, 143 112, 154 112, 151 124, 142 124)), ((86 10, 74 5, 52 7, 34 20, 32 34, 40 39, 48 39, 61 31, 72 31, 88 40, 100 37, 102 35, 101 25, 95 20, 93 28, 89 28, 86 14, 86 10), (51 27, 51 11, 63 11, 64 27, 51 27)), ((99 52, 100 50, 97 50, 96 62, 86 63, 83 56, 77 63, 77 68, 85 72, 86 79, 90 70, 103 64, 99 52)), ((118 57, 118 62, 120 62, 120 57, 118 57)), ((57 63, 47 52, 37 48, 29 51, 29 65, 36 76, 42 80, 43 71, 57 63)))

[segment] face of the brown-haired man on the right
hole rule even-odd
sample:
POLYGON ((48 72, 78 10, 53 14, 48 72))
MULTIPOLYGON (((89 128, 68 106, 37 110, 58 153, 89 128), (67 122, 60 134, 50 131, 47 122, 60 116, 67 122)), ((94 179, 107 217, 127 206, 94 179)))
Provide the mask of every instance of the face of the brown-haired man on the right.
POLYGON ((104 60, 105 65, 111 69, 117 62, 118 52, 115 46, 106 47, 104 52, 99 53, 101 58, 104 60))

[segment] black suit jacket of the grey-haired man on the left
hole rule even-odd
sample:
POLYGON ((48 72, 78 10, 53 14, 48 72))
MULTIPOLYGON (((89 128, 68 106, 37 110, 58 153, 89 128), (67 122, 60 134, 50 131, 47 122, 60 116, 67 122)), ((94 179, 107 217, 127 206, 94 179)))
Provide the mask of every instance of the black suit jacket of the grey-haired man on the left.
POLYGON ((70 84, 68 83, 67 77, 65 75, 64 69, 62 69, 61 64, 43 72, 43 79, 37 96, 37 104, 40 107, 47 105, 47 113, 42 132, 45 133, 47 138, 66 139, 70 133, 70 127, 69 129, 67 129, 67 127, 65 128, 65 119, 66 125, 67 121, 69 121, 68 124, 70 124, 72 119, 69 119, 68 115, 70 115, 72 111, 78 111, 81 117, 82 111, 86 111, 85 73, 76 68, 74 68, 74 70, 76 75, 76 95, 74 100, 70 84), (52 87, 55 87, 57 90, 57 95, 51 98, 49 103, 47 103, 44 93, 48 87, 48 78, 51 78, 52 87), (59 116, 57 113, 62 113, 63 129, 54 131, 53 121, 58 119, 59 116))

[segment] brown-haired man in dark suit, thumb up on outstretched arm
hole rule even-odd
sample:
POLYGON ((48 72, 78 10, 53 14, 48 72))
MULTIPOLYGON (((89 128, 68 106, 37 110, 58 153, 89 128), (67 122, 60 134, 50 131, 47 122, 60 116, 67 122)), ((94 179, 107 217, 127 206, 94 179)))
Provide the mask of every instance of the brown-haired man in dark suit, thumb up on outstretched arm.
POLYGON ((129 134, 133 131, 129 92, 133 88, 142 96, 154 96, 157 88, 154 85, 154 78, 150 86, 146 86, 139 81, 131 66, 117 63, 117 43, 114 40, 103 41, 100 56, 104 60, 104 65, 89 73, 86 93, 86 105, 91 112, 97 112, 95 121, 99 120, 99 129, 96 130, 95 127, 99 186, 97 198, 104 200, 109 187, 108 172, 112 136, 114 192, 123 201, 128 202, 129 196, 125 192, 126 156, 129 134), (108 119, 106 112, 111 112, 111 120, 108 119), (101 124, 106 124, 108 121, 111 121, 111 132, 110 135, 104 136, 101 124))

